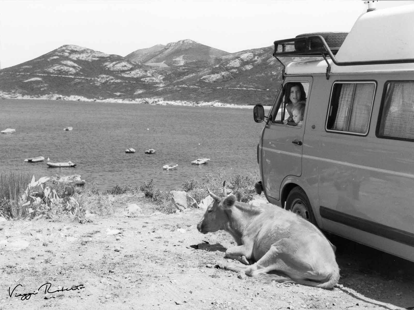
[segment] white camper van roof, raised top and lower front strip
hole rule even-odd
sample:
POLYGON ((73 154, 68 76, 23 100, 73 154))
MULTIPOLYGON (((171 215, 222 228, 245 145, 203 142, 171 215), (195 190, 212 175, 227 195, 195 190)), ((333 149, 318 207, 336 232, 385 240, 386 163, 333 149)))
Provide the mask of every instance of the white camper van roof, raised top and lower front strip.
MULTIPOLYGON (((335 58, 338 62, 414 59, 414 5, 363 13, 348 33, 335 58)), ((330 73, 413 71, 414 62, 337 66, 330 73)), ((325 74, 327 62, 291 62, 286 74, 325 74)))

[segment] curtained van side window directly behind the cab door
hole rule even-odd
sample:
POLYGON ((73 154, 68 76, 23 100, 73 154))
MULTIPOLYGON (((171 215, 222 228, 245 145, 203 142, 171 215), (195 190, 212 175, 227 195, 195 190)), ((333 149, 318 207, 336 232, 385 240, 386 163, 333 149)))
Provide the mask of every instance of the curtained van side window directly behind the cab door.
POLYGON ((374 93, 375 82, 334 83, 326 130, 368 134, 374 93))

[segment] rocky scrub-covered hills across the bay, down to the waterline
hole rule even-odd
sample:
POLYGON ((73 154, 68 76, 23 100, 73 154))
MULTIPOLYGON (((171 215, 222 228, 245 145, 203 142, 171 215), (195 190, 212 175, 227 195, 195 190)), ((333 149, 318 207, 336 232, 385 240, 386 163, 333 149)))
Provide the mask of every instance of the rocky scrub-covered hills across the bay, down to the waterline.
POLYGON ((0 95, 270 105, 281 79, 273 47, 228 53, 191 40, 125 57, 76 45, 0 70, 0 95))

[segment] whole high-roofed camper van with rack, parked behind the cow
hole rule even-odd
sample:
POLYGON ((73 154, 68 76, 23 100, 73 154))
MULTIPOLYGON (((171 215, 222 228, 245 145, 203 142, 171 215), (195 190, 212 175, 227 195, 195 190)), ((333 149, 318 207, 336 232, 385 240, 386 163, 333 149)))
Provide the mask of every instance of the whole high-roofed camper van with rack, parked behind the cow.
POLYGON ((414 5, 405 5, 371 8, 349 33, 275 41, 282 64, 305 58, 284 67, 267 114, 253 109, 265 123, 258 193, 324 231, 412 262, 413 29, 414 5))

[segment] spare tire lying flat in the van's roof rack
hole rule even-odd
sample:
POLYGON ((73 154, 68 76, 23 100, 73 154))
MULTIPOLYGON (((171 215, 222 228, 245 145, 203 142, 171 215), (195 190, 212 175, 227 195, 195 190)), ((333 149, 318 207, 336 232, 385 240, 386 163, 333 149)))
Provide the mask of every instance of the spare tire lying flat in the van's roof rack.
MULTIPOLYGON (((314 32, 314 33, 302 33, 296 36, 296 38, 308 37, 308 36, 322 36, 332 52, 337 52, 344 43, 345 38, 347 37, 347 32, 314 32)), ((323 43, 318 38, 310 39, 310 49, 320 49, 323 48, 323 43)), ((305 52, 306 51, 306 40, 296 41, 295 50, 305 52)))

